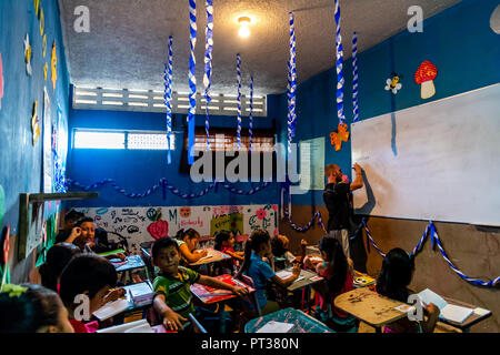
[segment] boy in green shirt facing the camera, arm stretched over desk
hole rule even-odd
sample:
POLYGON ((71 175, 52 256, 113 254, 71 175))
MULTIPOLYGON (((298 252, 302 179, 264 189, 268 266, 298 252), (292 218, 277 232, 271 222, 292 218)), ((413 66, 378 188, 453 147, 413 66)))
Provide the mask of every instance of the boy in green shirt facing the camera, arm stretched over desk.
MULTIPOLYGON (((248 294, 247 288, 232 286, 217 278, 200 275, 188 267, 179 266, 179 245, 170 237, 156 241, 151 255, 153 265, 161 271, 153 282, 153 307, 163 317, 163 326, 167 331, 182 329, 189 314, 196 312, 190 291, 190 285, 193 283, 229 290, 238 296, 248 294)), ((203 321, 200 320, 200 322, 203 321)))

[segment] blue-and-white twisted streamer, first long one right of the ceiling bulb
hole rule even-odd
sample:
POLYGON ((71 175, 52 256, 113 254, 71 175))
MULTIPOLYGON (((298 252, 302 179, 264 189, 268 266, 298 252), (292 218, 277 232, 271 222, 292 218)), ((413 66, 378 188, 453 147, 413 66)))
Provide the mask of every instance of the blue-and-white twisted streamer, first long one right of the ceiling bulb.
POLYGON ((296 114, 296 28, 293 23, 293 12, 290 16, 290 58, 288 61, 288 152, 291 153, 291 142, 296 135, 297 114, 296 114))

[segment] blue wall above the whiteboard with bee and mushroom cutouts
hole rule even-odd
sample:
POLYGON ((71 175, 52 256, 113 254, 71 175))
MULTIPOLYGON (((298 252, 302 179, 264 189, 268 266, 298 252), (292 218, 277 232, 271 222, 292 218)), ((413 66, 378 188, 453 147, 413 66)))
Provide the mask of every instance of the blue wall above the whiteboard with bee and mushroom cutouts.
MULTIPOLYGON (((370 119, 500 82, 500 36, 490 28, 490 17, 497 6, 496 0, 464 0, 423 21, 422 33, 404 30, 359 53, 359 119, 370 119), (421 99, 420 85, 413 79, 424 60, 430 60, 438 68, 438 77, 433 81, 436 94, 428 100, 421 99), (391 72, 401 75, 402 89, 396 95, 383 89, 391 72)), ((358 43, 362 40, 363 36, 359 33, 358 43)), ((351 37, 344 37, 343 47, 350 48, 351 41, 351 37)), ((300 67, 300 62, 297 65, 300 67)), ((351 59, 344 61, 343 74, 346 123, 350 124, 353 116, 351 59)), ((298 87, 298 123, 293 142, 324 136, 326 164, 339 164, 343 173, 352 179, 351 141, 343 142, 338 152, 330 144, 329 133, 336 131, 339 123, 336 87, 334 68, 298 87)), ((268 114, 277 119, 281 142, 287 141, 287 110, 286 93, 268 97, 268 114)), ((292 203, 324 205, 322 191, 293 195, 292 203)))

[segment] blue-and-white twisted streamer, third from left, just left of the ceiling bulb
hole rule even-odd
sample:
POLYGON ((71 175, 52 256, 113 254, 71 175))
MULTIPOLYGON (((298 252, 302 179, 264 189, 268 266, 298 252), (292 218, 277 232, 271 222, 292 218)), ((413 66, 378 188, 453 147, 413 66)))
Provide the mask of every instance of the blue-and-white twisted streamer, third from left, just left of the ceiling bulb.
POLYGON ((203 77, 203 84, 204 84, 204 131, 207 133, 207 144, 206 150, 208 151, 210 149, 210 142, 209 142, 209 129, 210 129, 210 122, 209 122, 209 104, 212 99, 210 98, 210 84, 212 80, 212 49, 213 49, 213 4, 212 0, 207 0, 206 2, 206 9, 207 9, 207 28, 204 30, 204 77, 203 77))

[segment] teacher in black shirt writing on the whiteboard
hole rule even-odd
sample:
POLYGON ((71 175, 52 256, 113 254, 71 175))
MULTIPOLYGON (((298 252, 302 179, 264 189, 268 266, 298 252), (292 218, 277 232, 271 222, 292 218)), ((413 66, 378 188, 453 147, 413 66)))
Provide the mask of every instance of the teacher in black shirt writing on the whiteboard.
POLYGON ((352 266, 352 260, 349 251, 349 193, 363 186, 361 166, 354 163, 356 179, 352 183, 342 180, 342 171, 337 164, 330 164, 324 168, 324 175, 328 184, 324 186, 323 201, 327 205, 328 236, 333 236, 342 244, 343 252, 352 266))

